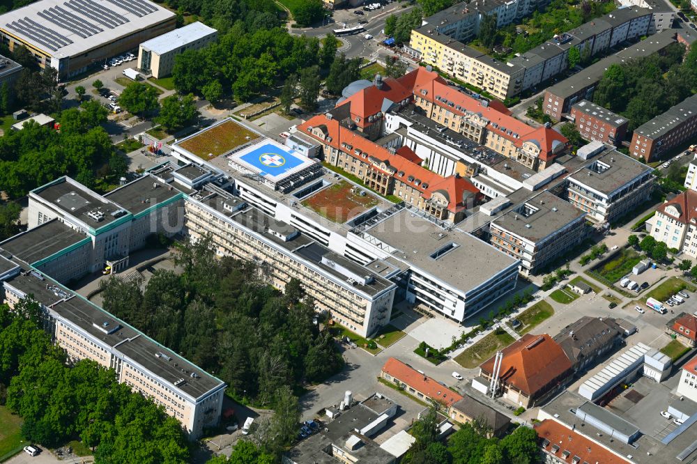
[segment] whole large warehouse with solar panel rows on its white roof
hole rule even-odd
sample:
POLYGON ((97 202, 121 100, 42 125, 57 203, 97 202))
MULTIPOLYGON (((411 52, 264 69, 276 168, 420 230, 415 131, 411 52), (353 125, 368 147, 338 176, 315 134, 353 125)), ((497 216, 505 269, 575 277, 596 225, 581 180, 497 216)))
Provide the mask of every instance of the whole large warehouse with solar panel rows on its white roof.
POLYGON ((148 0, 40 0, 0 15, 10 51, 24 45, 41 68, 67 79, 174 29, 175 15, 148 0))

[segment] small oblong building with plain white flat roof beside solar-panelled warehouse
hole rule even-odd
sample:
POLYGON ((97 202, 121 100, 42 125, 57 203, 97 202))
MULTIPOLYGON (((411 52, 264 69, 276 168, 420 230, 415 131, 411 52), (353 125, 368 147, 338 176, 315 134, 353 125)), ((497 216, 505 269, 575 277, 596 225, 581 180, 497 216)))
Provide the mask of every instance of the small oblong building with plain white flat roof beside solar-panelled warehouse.
POLYGON ((215 29, 199 21, 192 22, 141 43, 138 47, 138 68, 157 79, 169 76, 178 54, 206 47, 216 39, 215 29))

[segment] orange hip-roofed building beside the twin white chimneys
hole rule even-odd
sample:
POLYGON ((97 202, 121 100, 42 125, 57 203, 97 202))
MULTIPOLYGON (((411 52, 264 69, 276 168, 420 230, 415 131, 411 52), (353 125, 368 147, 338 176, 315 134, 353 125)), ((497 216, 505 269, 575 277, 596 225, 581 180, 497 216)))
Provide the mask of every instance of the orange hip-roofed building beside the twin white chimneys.
MULTIPOLYGON (((492 373, 493 359, 491 357, 482 364, 482 371, 492 373)), ((523 338, 504 348, 500 377, 501 382, 534 397, 571 369, 571 361, 552 337, 548 334, 525 334, 523 338)))

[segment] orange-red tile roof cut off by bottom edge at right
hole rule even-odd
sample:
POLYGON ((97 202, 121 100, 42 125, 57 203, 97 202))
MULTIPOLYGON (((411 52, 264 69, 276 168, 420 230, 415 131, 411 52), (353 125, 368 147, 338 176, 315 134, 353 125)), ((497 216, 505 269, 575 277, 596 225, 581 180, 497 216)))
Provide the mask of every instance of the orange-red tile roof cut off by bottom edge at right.
POLYGON ((544 419, 537 424, 535 432, 543 440, 540 447, 562 462, 571 463, 574 456, 581 458, 579 463, 627 464, 631 462, 552 419, 544 419), (556 447, 559 448, 555 452, 556 447), (564 451, 569 451, 567 458, 562 455, 564 451))

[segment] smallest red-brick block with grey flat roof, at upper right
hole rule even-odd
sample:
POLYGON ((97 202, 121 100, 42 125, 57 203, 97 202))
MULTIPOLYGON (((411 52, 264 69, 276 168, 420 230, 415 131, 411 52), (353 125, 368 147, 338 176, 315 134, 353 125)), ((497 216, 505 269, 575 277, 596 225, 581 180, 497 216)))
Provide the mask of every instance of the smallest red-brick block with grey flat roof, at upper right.
POLYGON ((573 105, 571 116, 581 137, 588 141, 620 146, 627 134, 629 119, 588 100, 573 105))

